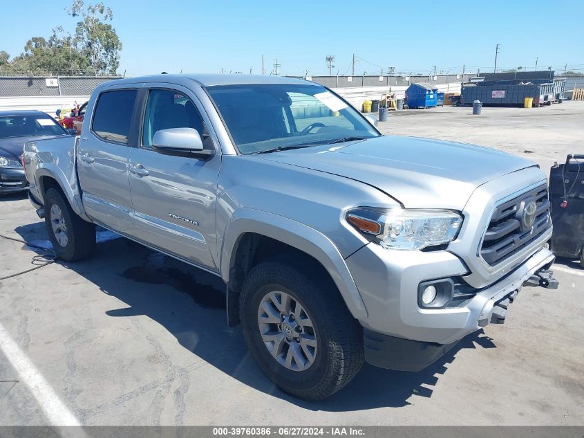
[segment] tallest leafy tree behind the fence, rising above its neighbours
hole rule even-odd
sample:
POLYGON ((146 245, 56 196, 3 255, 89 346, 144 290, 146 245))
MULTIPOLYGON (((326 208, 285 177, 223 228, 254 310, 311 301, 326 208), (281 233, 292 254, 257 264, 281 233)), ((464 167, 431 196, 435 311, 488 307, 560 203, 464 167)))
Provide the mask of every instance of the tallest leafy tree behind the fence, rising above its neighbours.
POLYGON ((84 8, 83 0, 74 0, 68 10, 72 17, 81 17, 77 23, 73 45, 88 60, 96 74, 115 74, 120 66, 122 42, 115 29, 106 21, 113 19, 113 12, 103 2, 84 8))

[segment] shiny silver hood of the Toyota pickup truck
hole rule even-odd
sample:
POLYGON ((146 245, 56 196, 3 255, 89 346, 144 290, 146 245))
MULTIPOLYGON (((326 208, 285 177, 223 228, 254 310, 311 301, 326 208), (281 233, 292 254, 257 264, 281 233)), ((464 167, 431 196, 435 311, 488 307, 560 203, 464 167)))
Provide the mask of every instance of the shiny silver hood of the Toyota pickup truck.
POLYGON ((480 185, 535 165, 489 147, 403 136, 307 147, 262 157, 373 185, 405 208, 453 210, 462 210, 480 185))

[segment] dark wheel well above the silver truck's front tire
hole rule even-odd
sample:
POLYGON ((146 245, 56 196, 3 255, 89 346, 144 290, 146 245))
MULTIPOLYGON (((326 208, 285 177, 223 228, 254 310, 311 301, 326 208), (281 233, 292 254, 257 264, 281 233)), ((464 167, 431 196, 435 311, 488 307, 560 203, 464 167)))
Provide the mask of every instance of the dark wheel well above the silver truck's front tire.
POLYGON ((239 292, 247 273, 264 260, 272 257, 286 257, 295 266, 302 266, 304 272, 319 277, 319 280, 330 281, 332 277, 326 268, 312 255, 305 253, 283 241, 272 239, 255 232, 246 232, 236 242, 229 267, 229 284, 227 287, 227 319, 231 327, 239 324, 239 292))

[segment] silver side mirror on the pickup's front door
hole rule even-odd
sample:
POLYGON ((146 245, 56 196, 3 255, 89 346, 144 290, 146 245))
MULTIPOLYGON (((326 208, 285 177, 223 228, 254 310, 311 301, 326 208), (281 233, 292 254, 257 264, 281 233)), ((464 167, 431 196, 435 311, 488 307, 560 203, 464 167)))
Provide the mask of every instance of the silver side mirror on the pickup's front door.
POLYGON ((154 133, 152 147, 164 155, 211 158, 215 154, 203 149, 200 134, 193 128, 160 129, 154 133))

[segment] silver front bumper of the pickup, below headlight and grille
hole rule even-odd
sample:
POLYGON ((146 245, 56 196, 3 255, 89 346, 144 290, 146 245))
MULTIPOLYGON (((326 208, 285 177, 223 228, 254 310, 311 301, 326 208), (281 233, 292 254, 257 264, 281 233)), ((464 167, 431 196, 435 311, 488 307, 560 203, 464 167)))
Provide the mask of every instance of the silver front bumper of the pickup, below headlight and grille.
POLYGON ((554 259, 551 251, 540 248, 456 307, 423 309, 418 301, 419 284, 464 276, 468 269, 462 260, 445 250, 424 253, 364 246, 346 263, 368 313, 360 320, 365 329, 366 360, 390 369, 423 369, 464 336, 491 322, 503 322, 522 285, 533 284, 534 275, 549 268, 554 259))

